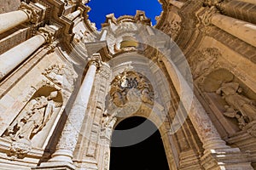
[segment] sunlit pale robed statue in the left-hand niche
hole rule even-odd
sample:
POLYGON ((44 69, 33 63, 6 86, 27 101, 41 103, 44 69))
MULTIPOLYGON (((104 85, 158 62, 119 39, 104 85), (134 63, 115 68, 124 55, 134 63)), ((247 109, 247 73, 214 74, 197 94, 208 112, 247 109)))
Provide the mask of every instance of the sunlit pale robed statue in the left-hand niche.
MULTIPOLYGON (((9 127, 5 136, 13 141, 30 141, 49 121, 55 111, 55 101, 58 92, 32 99, 25 113, 16 120, 15 126, 9 127)), ((59 105, 58 105, 59 106, 59 105)))

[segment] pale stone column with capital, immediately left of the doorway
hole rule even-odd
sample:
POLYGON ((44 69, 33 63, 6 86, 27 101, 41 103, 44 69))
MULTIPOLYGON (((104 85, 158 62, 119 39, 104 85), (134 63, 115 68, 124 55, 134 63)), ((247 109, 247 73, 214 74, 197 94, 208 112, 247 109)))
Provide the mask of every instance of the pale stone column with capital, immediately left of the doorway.
POLYGON ((89 69, 84 77, 79 93, 71 111, 67 117, 67 122, 61 133, 61 139, 57 144, 57 150, 49 162, 66 162, 73 164, 73 151, 79 139, 79 133, 84 122, 84 116, 87 114, 86 109, 90 99, 90 92, 95 80, 96 69, 101 65, 100 54, 93 54, 89 69))

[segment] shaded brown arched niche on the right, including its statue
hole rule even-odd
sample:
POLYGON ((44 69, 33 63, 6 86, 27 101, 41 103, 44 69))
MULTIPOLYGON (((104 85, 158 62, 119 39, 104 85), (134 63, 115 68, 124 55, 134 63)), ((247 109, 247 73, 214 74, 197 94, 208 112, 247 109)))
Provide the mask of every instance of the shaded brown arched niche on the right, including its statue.
POLYGON ((256 94, 230 71, 212 71, 199 88, 216 117, 212 122, 224 127, 223 137, 230 137, 256 121, 256 94))

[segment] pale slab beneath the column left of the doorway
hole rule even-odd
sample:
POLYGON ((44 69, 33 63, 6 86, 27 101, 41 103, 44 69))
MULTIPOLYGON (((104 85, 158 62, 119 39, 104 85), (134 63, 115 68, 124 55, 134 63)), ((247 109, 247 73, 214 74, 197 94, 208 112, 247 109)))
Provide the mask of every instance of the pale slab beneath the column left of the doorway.
POLYGON ((68 162, 44 162, 39 167, 32 167, 32 170, 75 170, 76 167, 68 162))

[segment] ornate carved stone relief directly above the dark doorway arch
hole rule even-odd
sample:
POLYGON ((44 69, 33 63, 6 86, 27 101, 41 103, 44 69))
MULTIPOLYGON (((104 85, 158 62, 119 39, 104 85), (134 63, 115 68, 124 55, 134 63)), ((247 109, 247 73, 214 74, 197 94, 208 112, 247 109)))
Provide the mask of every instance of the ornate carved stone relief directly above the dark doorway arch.
POLYGON ((153 88, 143 75, 124 71, 111 82, 110 97, 114 105, 124 107, 129 101, 136 100, 136 96, 149 105, 154 103, 153 88))

